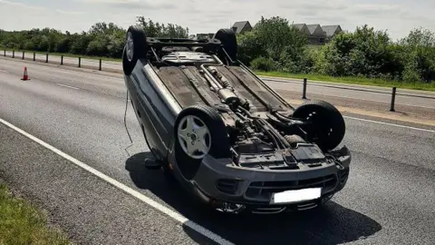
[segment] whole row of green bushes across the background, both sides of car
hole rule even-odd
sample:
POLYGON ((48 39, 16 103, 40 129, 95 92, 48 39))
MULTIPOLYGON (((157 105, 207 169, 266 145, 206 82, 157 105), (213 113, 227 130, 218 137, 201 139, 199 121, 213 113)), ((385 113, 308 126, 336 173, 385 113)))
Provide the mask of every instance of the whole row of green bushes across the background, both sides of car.
MULTIPOLYGON (((149 36, 183 37, 189 28, 137 18, 149 36)), ((88 32, 63 34, 50 28, 6 32, 0 46, 41 52, 121 58, 126 30, 97 23, 88 32)), ((261 17, 250 32, 237 34, 237 58, 256 70, 277 73, 362 77, 405 83, 435 79, 435 34, 414 29, 399 41, 368 25, 337 34, 324 45, 307 43, 305 34, 279 16, 261 17)))

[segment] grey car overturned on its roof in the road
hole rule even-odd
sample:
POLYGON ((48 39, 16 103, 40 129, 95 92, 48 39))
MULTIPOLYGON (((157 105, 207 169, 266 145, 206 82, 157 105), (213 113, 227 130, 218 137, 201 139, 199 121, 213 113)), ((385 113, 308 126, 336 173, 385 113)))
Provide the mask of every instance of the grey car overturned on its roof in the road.
POLYGON ((126 34, 131 104, 155 162, 218 211, 277 213, 321 206, 341 191, 351 154, 330 103, 287 103, 237 61, 237 39, 126 34))

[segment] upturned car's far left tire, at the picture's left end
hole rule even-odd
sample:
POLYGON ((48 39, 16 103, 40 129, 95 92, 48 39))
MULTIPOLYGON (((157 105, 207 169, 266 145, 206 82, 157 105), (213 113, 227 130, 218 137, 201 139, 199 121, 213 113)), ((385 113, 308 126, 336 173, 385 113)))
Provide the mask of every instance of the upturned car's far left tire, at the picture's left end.
POLYGON ((125 35, 125 46, 122 52, 122 70, 124 74, 130 75, 134 66, 140 59, 147 57, 148 45, 147 35, 139 25, 132 25, 125 35))

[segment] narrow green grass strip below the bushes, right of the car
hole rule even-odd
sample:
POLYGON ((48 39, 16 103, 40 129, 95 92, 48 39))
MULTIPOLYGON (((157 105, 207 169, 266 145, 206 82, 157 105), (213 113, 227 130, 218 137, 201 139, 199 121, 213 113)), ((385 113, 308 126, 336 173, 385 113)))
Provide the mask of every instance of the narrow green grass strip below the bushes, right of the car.
POLYGON ((321 74, 293 74, 293 73, 280 73, 280 72, 258 72, 258 75, 274 76, 274 77, 285 77, 285 78, 295 78, 304 79, 305 77, 309 80, 314 81, 324 81, 332 83, 351 83, 351 84, 362 84, 362 85, 373 85, 382 87, 397 87, 403 89, 413 89, 422 91, 434 91, 435 83, 410 83, 410 82, 398 82, 383 79, 370 79, 364 77, 353 77, 353 76, 343 76, 343 77, 333 77, 321 74))

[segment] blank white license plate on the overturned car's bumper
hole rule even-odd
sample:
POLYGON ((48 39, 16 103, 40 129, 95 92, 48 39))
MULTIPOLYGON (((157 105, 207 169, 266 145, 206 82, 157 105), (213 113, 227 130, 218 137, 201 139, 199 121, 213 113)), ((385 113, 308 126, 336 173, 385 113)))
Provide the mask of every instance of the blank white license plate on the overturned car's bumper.
POLYGON ((274 193, 270 204, 292 203, 299 201, 311 201, 320 198, 322 188, 309 188, 274 193))

